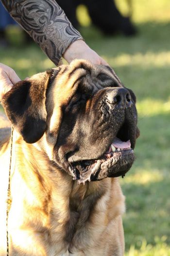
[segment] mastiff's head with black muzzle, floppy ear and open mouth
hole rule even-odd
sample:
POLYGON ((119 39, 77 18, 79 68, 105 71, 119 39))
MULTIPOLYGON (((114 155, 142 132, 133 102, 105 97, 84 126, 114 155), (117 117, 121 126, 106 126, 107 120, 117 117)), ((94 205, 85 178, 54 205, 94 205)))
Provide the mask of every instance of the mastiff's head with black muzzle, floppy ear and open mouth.
POLYGON ((110 67, 85 60, 20 81, 2 101, 23 139, 79 183, 131 168, 139 136, 135 103, 110 67))

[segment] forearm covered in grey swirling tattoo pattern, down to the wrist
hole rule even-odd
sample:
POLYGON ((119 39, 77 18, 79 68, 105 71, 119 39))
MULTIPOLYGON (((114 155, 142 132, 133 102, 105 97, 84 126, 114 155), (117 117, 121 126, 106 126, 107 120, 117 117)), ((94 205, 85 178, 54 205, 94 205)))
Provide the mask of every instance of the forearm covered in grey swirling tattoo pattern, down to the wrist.
POLYGON ((1 1, 55 64, 58 64, 70 43, 82 39, 55 0, 1 1))

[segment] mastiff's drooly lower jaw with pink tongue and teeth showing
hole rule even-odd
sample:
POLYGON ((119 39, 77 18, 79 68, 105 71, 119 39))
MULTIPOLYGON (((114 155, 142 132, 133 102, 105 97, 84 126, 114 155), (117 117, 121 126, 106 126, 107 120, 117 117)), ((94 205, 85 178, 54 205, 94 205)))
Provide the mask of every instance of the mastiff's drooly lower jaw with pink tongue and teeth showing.
POLYGON ((74 180, 78 180, 79 184, 85 184, 86 181, 101 180, 105 177, 124 177, 134 160, 130 140, 122 141, 115 137, 100 158, 73 162, 69 171, 74 180))

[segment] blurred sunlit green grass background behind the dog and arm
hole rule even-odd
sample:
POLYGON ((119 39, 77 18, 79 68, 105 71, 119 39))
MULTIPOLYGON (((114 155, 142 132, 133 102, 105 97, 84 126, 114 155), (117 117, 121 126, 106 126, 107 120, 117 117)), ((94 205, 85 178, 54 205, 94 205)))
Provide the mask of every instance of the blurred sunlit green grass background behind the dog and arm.
MULTIPOLYGON (((105 18, 97 15, 103 10, 98 2, 93 8, 87 0, 76 3, 68 16, 137 97, 136 161, 120 178, 126 196, 125 256, 170 256, 170 1, 116 0, 115 15, 106 10, 105 18), (104 21, 111 18, 113 26, 106 29, 104 21)), ((9 25, 3 33, 0 62, 21 79, 54 67, 18 26, 9 25)))

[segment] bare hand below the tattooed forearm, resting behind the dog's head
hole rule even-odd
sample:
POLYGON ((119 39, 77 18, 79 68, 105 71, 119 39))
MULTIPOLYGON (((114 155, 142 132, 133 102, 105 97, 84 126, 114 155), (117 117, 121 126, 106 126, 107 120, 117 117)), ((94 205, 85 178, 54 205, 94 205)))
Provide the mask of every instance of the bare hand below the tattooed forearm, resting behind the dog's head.
POLYGON ((93 51, 83 40, 77 40, 71 43, 63 54, 63 57, 68 61, 68 63, 73 59, 87 59, 94 64, 109 66, 109 64, 95 51, 93 51))

